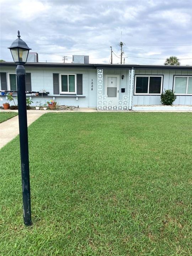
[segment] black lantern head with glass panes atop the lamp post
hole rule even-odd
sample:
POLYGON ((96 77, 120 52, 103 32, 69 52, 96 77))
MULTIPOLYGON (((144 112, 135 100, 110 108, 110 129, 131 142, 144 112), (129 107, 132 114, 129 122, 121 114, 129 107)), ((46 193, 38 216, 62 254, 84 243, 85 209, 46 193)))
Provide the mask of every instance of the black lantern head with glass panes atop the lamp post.
POLYGON ((18 38, 8 47, 11 50, 12 57, 16 64, 24 64, 27 61, 28 53, 31 48, 20 38, 18 30, 18 38))

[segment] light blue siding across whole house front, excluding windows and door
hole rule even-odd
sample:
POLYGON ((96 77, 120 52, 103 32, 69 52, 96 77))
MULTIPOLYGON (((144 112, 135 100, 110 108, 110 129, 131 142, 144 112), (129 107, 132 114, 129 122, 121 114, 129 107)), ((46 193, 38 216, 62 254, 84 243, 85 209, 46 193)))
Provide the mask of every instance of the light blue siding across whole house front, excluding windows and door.
MULTIPOLYGON (((4 66, 1 67, 1 72, 15 73, 15 67, 4 66)), ((26 66, 26 72, 31 73, 31 85, 32 91, 39 91, 45 89, 49 91, 48 97, 32 97, 33 105, 36 102, 40 102, 42 105, 47 100, 55 97, 55 100, 59 102, 60 105, 73 105, 79 107, 96 107, 97 106, 97 69, 87 69, 87 68, 63 68, 63 67, 30 67, 26 66), (85 97, 69 97, 60 96, 53 94, 53 73, 58 74, 82 74, 83 82, 83 96, 85 97), (91 84, 93 82, 93 84, 91 84), (91 87, 93 85, 93 87, 91 87), (93 89, 93 90, 91 90, 93 89)), ((105 76, 106 75, 119 75, 120 82, 120 93, 119 100, 123 99, 123 95, 128 94, 128 83, 129 83, 129 69, 110 69, 103 68, 103 93, 105 89, 105 76), (122 80, 122 75, 124 79, 122 80), (122 93, 121 89, 124 88, 125 92, 122 93)), ((162 90, 172 89, 174 75, 192 75, 192 70, 173 70, 173 69, 135 69, 135 75, 163 75, 163 87, 162 90)), ((0 87, 1 89, 1 87, 0 87)), ((28 96, 29 97, 29 96, 28 96)), ((6 101, 3 98, 4 103, 6 101)), ((160 95, 134 95, 133 105, 161 105, 160 95)), ((192 105, 192 96, 177 96, 174 105, 192 105)))

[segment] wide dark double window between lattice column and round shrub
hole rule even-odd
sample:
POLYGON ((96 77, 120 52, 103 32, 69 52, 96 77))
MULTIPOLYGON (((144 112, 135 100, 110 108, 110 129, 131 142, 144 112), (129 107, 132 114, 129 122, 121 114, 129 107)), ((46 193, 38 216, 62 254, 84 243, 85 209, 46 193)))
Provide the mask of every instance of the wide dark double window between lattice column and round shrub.
POLYGON ((161 94, 162 76, 136 75, 135 94, 161 94))

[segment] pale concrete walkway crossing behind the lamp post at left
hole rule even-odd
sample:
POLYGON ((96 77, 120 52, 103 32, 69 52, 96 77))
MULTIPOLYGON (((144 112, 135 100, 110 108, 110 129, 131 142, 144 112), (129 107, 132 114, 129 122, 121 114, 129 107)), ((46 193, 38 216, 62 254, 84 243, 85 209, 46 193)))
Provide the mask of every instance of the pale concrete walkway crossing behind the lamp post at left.
MULTIPOLYGON (((0 110, 0 112, 4 112, 0 110)), ((6 111, 10 112, 10 111, 6 111)), ((17 112, 12 110, 11 112, 17 112)), ((27 126, 42 116, 43 111, 27 111, 27 126)), ((0 149, 19 134, 18 116, 15 116, 5 122, 0 123, 0 149)))

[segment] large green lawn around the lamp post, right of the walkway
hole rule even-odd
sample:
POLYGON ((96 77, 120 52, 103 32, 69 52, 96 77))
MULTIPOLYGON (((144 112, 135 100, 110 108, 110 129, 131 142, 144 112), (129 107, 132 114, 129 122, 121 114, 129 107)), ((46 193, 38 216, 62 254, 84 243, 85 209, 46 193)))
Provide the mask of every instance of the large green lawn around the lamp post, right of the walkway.
POLYGON ((0 255, 192 255, 192 113, 48 113, 0 150, 0 255))

